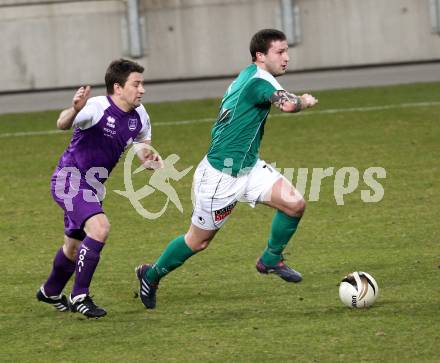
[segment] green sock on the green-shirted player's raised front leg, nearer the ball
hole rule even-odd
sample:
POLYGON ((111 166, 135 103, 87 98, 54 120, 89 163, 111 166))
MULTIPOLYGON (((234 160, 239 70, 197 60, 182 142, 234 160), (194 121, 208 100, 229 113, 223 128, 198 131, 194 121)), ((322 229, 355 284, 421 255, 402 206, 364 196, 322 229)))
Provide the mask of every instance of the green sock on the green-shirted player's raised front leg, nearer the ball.
POLYGON ((275 212, 267 248, 261 256, 266 266, 275 266, 282 260, 283 250, 295 233, 300 220, 301 217, 290 217, 281 211, 275 212))

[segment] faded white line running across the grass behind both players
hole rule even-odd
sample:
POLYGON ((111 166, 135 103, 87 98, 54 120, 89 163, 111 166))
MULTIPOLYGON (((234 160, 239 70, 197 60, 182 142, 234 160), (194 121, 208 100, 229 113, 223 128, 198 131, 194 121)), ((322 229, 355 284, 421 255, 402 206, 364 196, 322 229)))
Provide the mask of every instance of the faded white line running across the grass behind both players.
MULTIPOLYGON (((323 114, 335 114, 335 113, 345 113, 345 112, 368 112, 368 111, 382 111, 389 110, 393 108, 412 108, 412 107, 431 107, 439 106, 440 102, 412 102, 412 103, 398 103, 393 105, 382 105, 382 106, 367 106, 367 107, 351 107, 351 108, 334 108, 328 110, 320 111, 307 111, 304 113, 298 113, 295 116, 313 116, 313 115, 323 115, 323 114)), ((286 117, 291 116, 290 113, 280 113, 274 116, 276 117, 286 117)), ((181 121, 169 121, 169 122, 155 122, 153 126, 178 126, 178 125, 190 125, 205 122, 214 122, 214 118, 201 118, 195 120, 181 120, 181 121)), ((6 137, 19 137, 19 136, 39 136, 39 135, 51 135, 51 134, 64 134, 66 131, 61 130, 46 130, 46 131, 23 131, 23 132, 10 132, 0 134, 0 138, 6 137)))

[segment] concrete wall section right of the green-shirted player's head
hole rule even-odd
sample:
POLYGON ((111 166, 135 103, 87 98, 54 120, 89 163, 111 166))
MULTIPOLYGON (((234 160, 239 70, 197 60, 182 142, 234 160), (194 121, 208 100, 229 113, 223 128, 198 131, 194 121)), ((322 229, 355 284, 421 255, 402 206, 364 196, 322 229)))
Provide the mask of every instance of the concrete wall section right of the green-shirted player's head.
POLYGON ((303 43, 295 68, 410 62, 440 58, 425 0, 303 0, 303 43))

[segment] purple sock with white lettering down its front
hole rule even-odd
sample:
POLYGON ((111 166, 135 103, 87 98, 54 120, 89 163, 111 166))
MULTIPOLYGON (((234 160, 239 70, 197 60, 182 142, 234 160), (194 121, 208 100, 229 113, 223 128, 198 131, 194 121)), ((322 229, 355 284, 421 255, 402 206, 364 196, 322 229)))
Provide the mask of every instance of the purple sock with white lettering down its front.
POLYGON ((76 254, 75 282, 73 284, 72 297, 89 294, 89 286, 103 247, 104 243, 89 236, 82 241, 76 254))

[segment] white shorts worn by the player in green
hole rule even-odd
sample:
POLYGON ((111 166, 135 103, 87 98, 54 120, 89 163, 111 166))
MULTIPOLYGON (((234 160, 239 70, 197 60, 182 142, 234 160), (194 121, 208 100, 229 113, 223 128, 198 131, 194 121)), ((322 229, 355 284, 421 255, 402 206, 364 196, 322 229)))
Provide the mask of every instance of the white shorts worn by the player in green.
POLYGON ((237 202, 255 207, 282 175, 263 160, 248 174, 233 177, 213 168, 205 157, 194 173, 191 222, 202 229, 219 229, 237 202))

